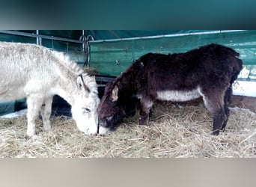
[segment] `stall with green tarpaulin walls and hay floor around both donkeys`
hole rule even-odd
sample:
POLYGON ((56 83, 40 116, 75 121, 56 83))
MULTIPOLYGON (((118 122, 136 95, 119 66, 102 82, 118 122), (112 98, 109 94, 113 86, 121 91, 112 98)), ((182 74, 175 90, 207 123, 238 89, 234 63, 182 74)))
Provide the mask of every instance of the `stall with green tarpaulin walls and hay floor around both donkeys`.
POLYGON ((186 52, 219 43, 240 53, 243 70, 234 82, 227 129, 210 135, 212 119, 201 99, 157 102, 138 126, 138 112, 111 135, 87 136, 70 118, 70 105, 55 96, 52 131, 37 120, 37 135, 25 139, 25 99, 0 102, 0 157, 255 157, 255 30, 23 30, 0 31, 0 41, 36 43, 63 52, 104 86, 147 52, 186 52), (18 112, 19 111, 19 112, 18 112), (17 112, 15 116, 15 112, 17 112), (7 114, 7 115, 6 115, 7 114), (6 118, 6 117, 10 117, 6 118))

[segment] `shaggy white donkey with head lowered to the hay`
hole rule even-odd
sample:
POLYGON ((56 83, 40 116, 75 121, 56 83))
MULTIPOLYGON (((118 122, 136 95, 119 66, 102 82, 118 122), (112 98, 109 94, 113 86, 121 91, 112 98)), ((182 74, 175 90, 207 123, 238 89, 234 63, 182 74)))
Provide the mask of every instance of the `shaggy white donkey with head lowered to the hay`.
POLYGON ((51 129, 52 98, 57 94, 71 105, 80 131, 97 134, 100 102, 94 76, 88 76, 61 52, 28 43, 0 42, 0 100, 27 98, 27 135, 35 134, 35 119, 51 129))

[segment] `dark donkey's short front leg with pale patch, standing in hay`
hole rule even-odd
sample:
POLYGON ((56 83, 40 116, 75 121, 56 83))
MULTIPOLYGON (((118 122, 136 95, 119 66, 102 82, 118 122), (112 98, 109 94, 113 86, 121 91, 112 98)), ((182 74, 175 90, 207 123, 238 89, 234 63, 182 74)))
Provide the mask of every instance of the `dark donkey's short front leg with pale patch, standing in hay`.
POLYGON ((140 117, 139 117, 139 121, 138 124, 139 125, 143 125, 145 123, 145 121, 147 120, 147 118, 149 117, 150 114, 150 108, 153 105, 153 101, 147 97, 141 97, 141 109, 140 109, 140 117))

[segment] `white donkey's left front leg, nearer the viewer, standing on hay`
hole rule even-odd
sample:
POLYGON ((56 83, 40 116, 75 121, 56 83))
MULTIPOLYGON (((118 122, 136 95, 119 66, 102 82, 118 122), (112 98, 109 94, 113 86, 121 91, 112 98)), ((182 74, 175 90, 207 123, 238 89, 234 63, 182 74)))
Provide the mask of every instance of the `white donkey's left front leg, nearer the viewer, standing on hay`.
POLYGON ((35 135, 35 120, 37 119, 40 111, 40 106, 43 104, 43 98, 39 98, 34 95, 27 97, 27 120, 28 120, 28 129, 27 136, 31 137, 35 135))

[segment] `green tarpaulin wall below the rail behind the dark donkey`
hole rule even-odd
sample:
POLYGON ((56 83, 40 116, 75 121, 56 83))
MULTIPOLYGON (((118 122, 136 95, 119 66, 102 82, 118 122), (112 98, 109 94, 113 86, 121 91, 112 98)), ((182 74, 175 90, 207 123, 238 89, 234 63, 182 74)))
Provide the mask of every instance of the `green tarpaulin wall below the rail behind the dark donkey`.
POLYGON ((100 75, 118 76, 147 52, 186 52, 208 43, 219 43, 240 52, 240 58, 251 71, 250 76, 256 76, 256 31, 90 42, 90 66, 100 75))

